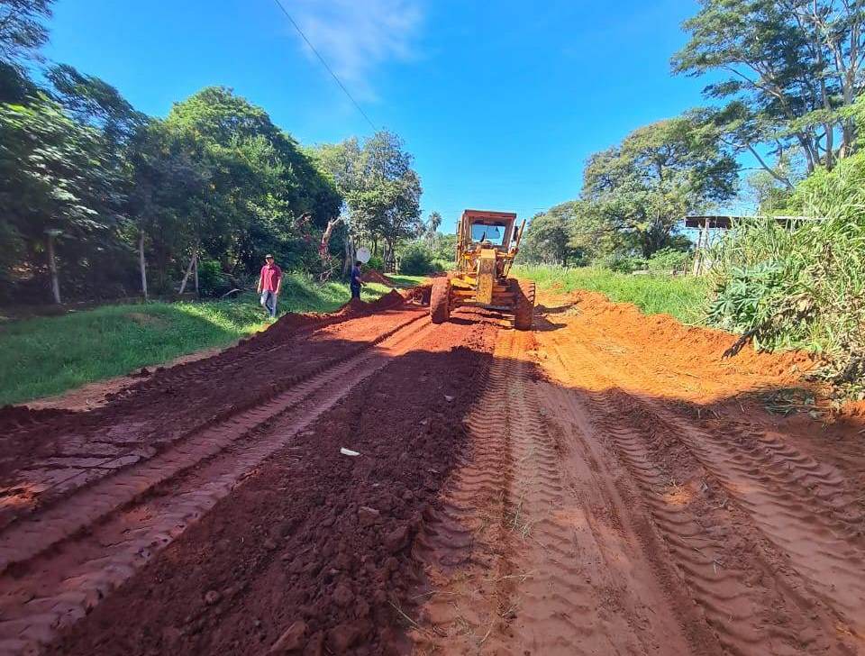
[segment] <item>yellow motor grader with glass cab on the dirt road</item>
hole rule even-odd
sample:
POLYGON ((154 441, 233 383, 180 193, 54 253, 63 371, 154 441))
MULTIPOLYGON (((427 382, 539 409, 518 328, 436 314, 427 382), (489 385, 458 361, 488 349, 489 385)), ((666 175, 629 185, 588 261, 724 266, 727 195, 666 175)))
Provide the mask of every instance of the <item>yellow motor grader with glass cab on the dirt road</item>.
POLYGON ((457 270, 432 281, 432 323, 444 323, 460 305, 476 305, 514 315, 514 328, 529 330, 534 315, 534 283, 508 278, 523 239, 525 220, 516 214, 466 210, 457 226, 457 270))

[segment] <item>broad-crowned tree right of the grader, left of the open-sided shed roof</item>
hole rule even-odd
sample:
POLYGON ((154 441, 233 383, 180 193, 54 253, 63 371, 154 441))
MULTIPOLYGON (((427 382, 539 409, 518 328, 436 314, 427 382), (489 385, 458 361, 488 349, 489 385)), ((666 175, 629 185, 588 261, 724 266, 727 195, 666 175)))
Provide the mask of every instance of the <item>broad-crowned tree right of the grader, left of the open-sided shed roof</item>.
POLYGON ((685 214, 732 197, 737 174, 712 125, 691 114, 651 123, 589 158, 578 232, 648 258, 685 214))

